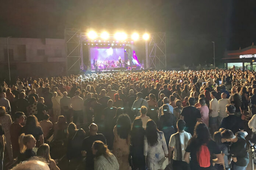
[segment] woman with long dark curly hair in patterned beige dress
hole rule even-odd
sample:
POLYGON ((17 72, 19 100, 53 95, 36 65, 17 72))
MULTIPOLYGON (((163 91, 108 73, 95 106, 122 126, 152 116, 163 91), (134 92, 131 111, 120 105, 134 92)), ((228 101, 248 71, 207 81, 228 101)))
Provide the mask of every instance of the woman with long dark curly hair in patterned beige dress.
POLYGON ((130 170, 128 162, 131 144, 131 120, 127 114, 120 115, 114 127, 113 154, 121 170, 130 170))

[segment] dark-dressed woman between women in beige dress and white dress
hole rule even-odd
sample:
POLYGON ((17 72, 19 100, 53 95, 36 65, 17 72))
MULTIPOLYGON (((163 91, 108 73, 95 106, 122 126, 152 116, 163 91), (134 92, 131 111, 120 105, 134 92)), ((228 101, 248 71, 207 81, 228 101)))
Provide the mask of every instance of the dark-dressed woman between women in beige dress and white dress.
POLYGON ((145 170, 145 158, 143 154, 145 130, 141 118, 135 118, 131 130, 131 156, 136 170, 145 170))

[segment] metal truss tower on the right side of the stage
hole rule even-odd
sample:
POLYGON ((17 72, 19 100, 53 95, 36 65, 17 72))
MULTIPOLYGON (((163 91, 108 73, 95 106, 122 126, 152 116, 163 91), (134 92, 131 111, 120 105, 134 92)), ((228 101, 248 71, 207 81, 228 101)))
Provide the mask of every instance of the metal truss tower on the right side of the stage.
POLYGON ((147 69, 166 69, 166 33, 151 33, 151 40, 146 42, 146 64, 147 69), (148 55, 149 52, 149 55, 148 55))

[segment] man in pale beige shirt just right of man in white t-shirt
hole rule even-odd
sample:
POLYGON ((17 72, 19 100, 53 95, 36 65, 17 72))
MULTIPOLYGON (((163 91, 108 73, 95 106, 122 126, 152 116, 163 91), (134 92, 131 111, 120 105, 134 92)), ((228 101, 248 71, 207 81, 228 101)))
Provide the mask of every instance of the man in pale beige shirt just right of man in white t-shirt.
POLYGON ((218 101, 219 110, 218 110, 218 125, 220 125, 221 120, 228 116, 226 112, 226 105, 230 104, 230 100, 226 99, 227 94, 221 93, 221 99, 218 101))

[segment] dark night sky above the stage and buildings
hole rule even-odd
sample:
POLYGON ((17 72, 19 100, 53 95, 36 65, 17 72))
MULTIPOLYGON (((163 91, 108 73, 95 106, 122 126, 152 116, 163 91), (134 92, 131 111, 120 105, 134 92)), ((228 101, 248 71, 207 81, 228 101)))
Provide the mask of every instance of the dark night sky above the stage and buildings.
POLYGON ((167 62, 217 63, 256 43, 255 0, 7 0, 0 37, 64 38, 65 27, 166 32, 167 62))

